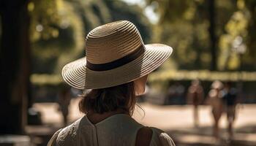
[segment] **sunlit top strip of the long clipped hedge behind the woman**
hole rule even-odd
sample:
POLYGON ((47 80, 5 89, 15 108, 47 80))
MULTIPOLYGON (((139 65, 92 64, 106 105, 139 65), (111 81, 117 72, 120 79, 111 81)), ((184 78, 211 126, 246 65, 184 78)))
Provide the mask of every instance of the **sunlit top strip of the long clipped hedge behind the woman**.
MULTIPOLYGON (((173 70, 166 69, 153 72, 148 76, 148 82, 153 85, 167 87, 170 80, 203 80, 203 81, 237 81, 255 82, 256 72, 211 72, 208 70, 173 70)), ((60 74, 32 74, 30 77, 34 85, 60 85, 63 80, 60 74)))

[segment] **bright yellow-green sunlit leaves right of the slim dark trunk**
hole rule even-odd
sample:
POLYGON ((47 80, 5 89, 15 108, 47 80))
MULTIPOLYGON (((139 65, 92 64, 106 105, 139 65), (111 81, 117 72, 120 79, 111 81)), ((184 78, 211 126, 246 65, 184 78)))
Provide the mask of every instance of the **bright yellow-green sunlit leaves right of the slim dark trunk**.
POLYGON ((241 65, 241 59, 234 50, 233 43, 237 37, 246 39, 250 16, 243 0, 237 1, 237 7, 238 10, 233 12, 230 20, 225 24, 226 33, 219 39, 219 69, 221 70, 238 69, 241 65))

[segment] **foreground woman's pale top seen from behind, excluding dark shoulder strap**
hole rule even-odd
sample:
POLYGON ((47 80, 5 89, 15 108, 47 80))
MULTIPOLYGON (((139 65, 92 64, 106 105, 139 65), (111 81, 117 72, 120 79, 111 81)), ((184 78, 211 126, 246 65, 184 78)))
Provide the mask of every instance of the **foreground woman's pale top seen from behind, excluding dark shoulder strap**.
MULTIPOLYGON (((48 146, 131 146, 135 145, 137 131, 142 127, 129 115, 112 115, 96 124, 92 124, 85 115, 53 134, 48 146)), ((151 129, 150 145, 175 146, 173 139, 164 131, 151 129)))

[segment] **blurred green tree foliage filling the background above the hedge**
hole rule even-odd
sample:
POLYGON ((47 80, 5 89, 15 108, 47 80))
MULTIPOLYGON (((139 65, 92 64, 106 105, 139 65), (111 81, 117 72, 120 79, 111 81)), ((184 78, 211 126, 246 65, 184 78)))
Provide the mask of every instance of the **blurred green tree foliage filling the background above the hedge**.
MULTIPOLYGON (((33 72, 59 74, 62 66, 85 55, 86 34, 104 23, 130 20, 138 26, 145 43, 161 42, 174 48, 159 71, 209 69, 208 0, 146 0, 154 5, 159 23, 152 25, 143 8, 121 0, 31 0, 33 72)), ((220 71, 256 69, 256 1, 216 0, 216 34, 220 71), (242 37, 242 58, 233 41, 242 37)))

